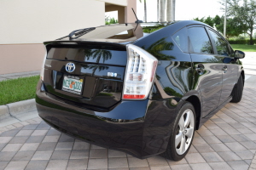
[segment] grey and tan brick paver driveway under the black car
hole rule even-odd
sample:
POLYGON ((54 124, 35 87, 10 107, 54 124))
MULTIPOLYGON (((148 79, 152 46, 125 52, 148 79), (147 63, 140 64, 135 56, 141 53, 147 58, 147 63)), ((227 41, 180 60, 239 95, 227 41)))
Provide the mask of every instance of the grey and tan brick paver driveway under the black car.
POLYGON ((195 132, 182 161, 140 160, 104 149, 59 133, 38 117, 0 134, 0 169, 248 169, 256 150, 255 94, 256 89, 245 88, 239 104, 225 105, 212 116, 195 132))

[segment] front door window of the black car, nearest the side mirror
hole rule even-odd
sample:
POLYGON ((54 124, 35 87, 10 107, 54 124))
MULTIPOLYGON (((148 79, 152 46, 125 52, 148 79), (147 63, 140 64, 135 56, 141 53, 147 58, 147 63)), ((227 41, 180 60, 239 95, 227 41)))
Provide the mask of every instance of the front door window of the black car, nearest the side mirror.
POLYGON ((219 55, 226 55, 226 56, 230 56, 230 48, 229 48, 229 44, 227 42, 224 41, 224 39, 220 36, 218 36, 217 33, 215 33, 212 30, 209 30, 212 39, 213 39, 213 43, 215 44, 216 48, 217 48, 217 52, 219 55))

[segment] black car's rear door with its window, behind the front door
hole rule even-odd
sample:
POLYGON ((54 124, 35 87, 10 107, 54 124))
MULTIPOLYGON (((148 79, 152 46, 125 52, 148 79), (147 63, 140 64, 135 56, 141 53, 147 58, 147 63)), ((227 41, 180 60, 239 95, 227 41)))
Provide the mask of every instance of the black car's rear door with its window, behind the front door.
POLYGON ((189 54, 193 62, 194 88, 201 91, 202 116, 216 109, 222 88, 222 57, 214 55, 204 26, 190 26, 189 54), (199 89, 198 89, 199 88, 199 89))

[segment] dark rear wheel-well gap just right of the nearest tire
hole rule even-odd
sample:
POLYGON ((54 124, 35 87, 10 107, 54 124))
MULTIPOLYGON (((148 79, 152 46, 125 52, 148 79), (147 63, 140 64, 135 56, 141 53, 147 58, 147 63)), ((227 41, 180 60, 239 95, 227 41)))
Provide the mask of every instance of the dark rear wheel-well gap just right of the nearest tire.
POLYGON ((195 108, 195 129, 198 130, 201 119, 201 101, 195 95, 190 96, 188 99, 186 99, 186 101, 191 103, 195 108))

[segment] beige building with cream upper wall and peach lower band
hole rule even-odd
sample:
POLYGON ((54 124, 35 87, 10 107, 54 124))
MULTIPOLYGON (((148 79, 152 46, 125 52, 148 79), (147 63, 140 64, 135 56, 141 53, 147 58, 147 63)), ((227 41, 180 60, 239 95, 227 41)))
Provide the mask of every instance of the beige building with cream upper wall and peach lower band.
POLYGON ((39 71, 42 42, 71 31, 105 24, 105 12, 118 11, 119 23, 136 20, 136 0, 1 0, 0 74, 39 71))

